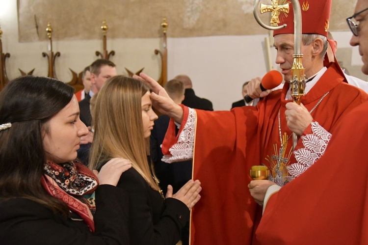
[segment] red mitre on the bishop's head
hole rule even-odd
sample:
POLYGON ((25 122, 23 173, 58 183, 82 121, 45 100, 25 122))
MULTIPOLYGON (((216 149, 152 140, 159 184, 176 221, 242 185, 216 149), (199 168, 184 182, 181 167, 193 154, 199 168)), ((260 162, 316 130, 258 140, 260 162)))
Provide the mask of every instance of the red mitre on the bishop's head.
MULTIPOLYGON (((302 12, 302 33, 320 34, 327 37, 330 26, 332 0, 299 0, 302 12)), ((280 11, 278 26, 287 24, 285 28, 273 31, 273 35, 294 33, 294 11, 290 0, 278 0, 279 5, 289 4, 289 13, 280 11)))

